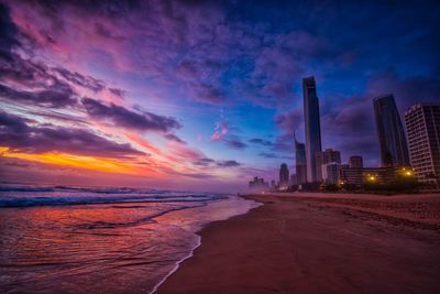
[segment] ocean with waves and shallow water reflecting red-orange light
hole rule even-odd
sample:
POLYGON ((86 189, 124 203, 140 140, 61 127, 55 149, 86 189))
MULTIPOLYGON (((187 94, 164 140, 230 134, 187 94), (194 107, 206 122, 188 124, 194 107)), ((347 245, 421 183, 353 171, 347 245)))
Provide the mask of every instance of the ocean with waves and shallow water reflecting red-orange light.
POLYGON ((0 186, 2 293, 153 293, 207 224, 258 204, 226 194, 0 186))

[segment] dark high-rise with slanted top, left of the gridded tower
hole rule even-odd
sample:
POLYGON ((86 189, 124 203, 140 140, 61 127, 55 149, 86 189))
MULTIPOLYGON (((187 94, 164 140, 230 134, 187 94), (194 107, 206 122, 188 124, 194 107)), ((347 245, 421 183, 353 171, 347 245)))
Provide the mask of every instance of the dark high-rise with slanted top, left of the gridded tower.
POLYGON ((393 95, 373 99, 382 166, 409 165, 408 148, 393 95))

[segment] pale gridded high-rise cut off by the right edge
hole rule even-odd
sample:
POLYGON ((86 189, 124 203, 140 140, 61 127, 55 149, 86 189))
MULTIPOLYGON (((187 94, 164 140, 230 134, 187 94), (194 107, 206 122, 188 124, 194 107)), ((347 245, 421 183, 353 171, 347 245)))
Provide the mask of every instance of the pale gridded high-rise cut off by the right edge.
POLYGON ((409 155, 419 182, 440 184, 440 104, 418 104, 405 111, 409 155))

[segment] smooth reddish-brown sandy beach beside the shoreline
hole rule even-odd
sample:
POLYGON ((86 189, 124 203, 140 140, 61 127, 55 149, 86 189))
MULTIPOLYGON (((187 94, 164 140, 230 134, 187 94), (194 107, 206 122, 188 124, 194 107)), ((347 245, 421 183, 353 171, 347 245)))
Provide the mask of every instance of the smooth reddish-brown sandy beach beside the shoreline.
POLYGON ((440 195, 271 194, 157 293, 440 293, 440 195))

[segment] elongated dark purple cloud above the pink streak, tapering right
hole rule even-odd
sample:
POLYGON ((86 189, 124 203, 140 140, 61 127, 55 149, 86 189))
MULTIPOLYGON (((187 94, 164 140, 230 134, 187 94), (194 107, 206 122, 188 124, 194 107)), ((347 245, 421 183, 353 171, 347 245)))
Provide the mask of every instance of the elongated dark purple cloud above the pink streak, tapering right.
POLYGON ((173 118, 157 116, 152 112, 134 112, 124 107, 113 104, 105 105, 102 101, 90 98, 82 99, 82 106, 87 113, 95 118, 108 121, 116 127, 135 129, 142 131, 168 132, 179 129, 182 126, 173 118))

